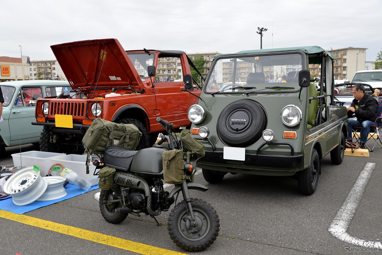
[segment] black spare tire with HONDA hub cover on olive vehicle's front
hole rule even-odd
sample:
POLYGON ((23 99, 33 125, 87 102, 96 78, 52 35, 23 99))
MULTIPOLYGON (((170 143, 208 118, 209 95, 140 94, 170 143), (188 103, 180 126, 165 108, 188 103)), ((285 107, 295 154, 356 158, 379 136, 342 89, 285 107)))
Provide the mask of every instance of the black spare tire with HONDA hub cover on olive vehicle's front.
POLYGON ((261 137, 265 129, 264 109, 249 99, 228 104, 217 120, 220 139, 229 146, 246 147, 261 137))

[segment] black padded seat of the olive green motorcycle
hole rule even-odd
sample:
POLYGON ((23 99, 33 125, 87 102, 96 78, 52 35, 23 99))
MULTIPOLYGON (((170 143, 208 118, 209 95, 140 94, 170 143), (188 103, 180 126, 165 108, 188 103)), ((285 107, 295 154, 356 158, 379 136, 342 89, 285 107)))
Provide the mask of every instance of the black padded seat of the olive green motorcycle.
POLYGON ((137 152, 130 151, 125 147, 109 146, 104 151, 104 163, 106 166, 128 171, 137 152))

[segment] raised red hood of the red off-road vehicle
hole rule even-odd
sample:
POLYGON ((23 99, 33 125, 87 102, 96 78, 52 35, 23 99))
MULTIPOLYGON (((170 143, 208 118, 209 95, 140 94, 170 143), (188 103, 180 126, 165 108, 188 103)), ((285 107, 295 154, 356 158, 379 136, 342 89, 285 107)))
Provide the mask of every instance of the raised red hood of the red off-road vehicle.
POLYGON ((68 42, 50 46, 73 88, 135 86, 139 74, 117 39, 68 42))

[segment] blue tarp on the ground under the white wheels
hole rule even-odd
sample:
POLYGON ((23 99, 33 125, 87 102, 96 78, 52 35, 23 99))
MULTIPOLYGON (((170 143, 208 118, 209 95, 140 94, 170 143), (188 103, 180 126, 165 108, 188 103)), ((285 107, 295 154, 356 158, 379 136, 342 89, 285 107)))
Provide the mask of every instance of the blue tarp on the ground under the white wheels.
POLYGON ((0 200, 0 210, 9 211, 11 213, 23 214, 23 213, 26 213, 29 211, 36 210, 40 207, 52 205, 54 203, 58 203, 60 201, 66 200, 66 199, 76 197, 78 195, 89 192, 91 190, 95 190, 97 188, 99 188, 98 185, 95 185, 93 187, 90 187, 88 191, 85 191, 82 188, 79 188, 74 184, 68 184, 65 186, 65 191, 67 194, 63 198, 58 198, 58 199, 50 200, 50 201, 34 201, 28 205, 21 205, 21 206, 15 205, 12 202, 12 198, 9 197, 7 199, 0 200))

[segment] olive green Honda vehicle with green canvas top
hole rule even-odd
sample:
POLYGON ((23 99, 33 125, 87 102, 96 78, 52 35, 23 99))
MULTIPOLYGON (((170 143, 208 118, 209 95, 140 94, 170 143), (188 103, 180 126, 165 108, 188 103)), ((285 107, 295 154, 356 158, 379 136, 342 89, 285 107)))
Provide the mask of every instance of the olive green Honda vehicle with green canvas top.
POLYGON ((206 146, 197 166, 207 182, 227 173, 296 175, 300 192, 311 195, 321 159, 330 153, 341 164, 345 152, 348 119, 333 97, 333 57, 318 46, 215 57, 201 99, 188 110, 191 133, 206 146), (214 80, 228 85, 208 89, 214 80))

